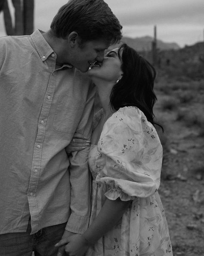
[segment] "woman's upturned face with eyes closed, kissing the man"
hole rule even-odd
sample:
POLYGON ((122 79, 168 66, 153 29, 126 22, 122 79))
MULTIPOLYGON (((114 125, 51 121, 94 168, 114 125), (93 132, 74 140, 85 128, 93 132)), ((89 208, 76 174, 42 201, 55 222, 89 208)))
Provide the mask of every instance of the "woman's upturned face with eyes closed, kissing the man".
MULTIPOLYGON (((121 70, 121 60, 118 57, 118 49, 115 48, 105 54, 102 63, 95 63, 93 67, 88 70, 87 74, 92 78, 93 82, 96 80, 105 80, 107 82, 116 83, 123 74, 121 70)), ((120 51, 122 54, 122 49, 120 51)))

